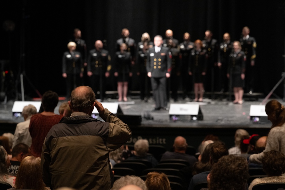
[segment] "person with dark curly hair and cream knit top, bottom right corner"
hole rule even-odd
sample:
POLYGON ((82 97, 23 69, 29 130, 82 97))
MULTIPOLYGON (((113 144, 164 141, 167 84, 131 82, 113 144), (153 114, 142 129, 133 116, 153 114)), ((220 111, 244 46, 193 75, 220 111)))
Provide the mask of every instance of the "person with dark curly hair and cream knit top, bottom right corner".
POLYGON ((253 186, 259 183, 272 183, 272 182, 284 182, 285 176, 285 156, 282 152, 276 150, 270 150, 264 153, 262 159, 263 171, 268 175, 268 177, 256 178, 249 185, 249 190, 253 186))

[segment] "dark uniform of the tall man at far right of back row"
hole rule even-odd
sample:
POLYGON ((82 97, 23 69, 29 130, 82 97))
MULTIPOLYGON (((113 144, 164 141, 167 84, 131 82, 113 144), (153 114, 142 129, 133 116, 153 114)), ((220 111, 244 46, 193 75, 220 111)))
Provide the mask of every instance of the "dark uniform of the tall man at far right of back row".
POLYGON ((251 66, 251 61, 255 61, 256 58, 256 41, 254 37, 249 36, 248 38, 241 38, 240 42, 241 50, 247 57, 245 69, 245 90, 252 92, 254 87, 255 68, 254 66, 251 66))

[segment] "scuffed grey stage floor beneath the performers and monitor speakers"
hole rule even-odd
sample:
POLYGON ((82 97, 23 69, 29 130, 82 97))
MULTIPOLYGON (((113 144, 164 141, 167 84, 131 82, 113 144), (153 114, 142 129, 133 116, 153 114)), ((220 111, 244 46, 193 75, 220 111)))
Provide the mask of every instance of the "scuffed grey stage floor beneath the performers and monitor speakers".
MULTIPOLYGON (((178 119, 173 121, 166 110, 152 111, 154 109, 154 101, 152 98, 148 101, 142 101, 134 97, 128 98, 128 102, 117 102, 117 99, 105 99, 104 102, 117 102, 124 115, 140 115, 142 121, 138 127, 270 128, 270 122, 267 120, 259 122, 250 120, 250 106, 259 105, 262 102, 262 99, 256 101, 244 101, 242 105, 233 104, 226 99, 204 99, 204 102, 201 103, 192 102, 187 98, 180 99, 176 102, 170 101, 168 107, 171 103, 199 104, 203 114, 203 120, 190 121, 178 119)), ((59 101, 55 113, 58 113, 58 107, 62 102, 63 101, 59 101)), ((284 102, 281 103, 284 104, 284 102)), ((13 116, 13 104, 14 101, 0 104, 0 123, 17 124, 24 120, 23 117, 13 116)))

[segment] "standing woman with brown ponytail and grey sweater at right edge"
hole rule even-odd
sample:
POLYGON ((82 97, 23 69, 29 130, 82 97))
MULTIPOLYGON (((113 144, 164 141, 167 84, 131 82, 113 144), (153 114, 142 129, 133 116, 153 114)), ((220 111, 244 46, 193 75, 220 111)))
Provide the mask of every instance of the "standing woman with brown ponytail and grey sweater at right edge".
POLYGON ((285 107, 276 100, 271 100, 265 105, 265 113, 272 122, 268 133, 265 150, 259 154, 252 154, 249 161, 261 164, 265 152, 277 150, 285 154, 285 107))

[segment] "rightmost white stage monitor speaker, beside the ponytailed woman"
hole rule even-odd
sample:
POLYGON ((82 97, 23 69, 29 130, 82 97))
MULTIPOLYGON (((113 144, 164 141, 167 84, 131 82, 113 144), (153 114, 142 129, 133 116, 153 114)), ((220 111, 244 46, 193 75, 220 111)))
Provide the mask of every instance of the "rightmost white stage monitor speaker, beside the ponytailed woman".
POLYGON ((265 113, 265 105, 251 105, 249 116, 250 120, 254 122, 258 121, 269 122, 269 120, 267 119, 267 114, 265 113))

